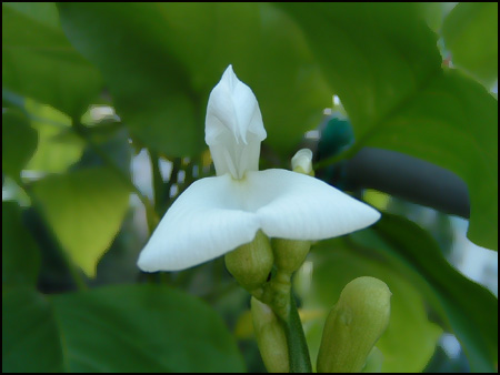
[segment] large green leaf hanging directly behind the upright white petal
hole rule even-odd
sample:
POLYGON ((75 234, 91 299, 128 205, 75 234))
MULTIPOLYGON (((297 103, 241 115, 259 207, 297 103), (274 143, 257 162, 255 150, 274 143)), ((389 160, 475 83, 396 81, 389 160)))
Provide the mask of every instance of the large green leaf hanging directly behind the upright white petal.
POLYGON ((118 113, 158 151, 186 155, 203 146, 208 94, 230 63, 254 90, 267 142, 281 153, 293 150, 331 103, 301 31, 269 4, 60 4, 60 10, 69 39, 103 72, 118 113))

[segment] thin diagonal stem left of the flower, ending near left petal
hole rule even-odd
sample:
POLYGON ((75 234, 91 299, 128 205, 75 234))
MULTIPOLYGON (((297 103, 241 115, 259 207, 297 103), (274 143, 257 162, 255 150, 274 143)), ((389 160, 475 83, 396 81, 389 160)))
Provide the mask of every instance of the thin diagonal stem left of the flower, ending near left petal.
POLYGON ((149 232, 152 233, 154 227, 158 225, 159 217, 154 212, 154 207, 152 206, 149 199, 141 193, 141 191, 133 184, 128 175, 126 175, 120 168, 114 163, 114 161, 99 146, 97 145, 92 139, 90 138, 87 128, 81 124, 79 121, 72 121, 72 126, 74 132, 81 136, 91 148, 92 150, 102 159, 102 161, 108 165, 110 170, 112 170, 118 178, 131 190, 131 192, 136 193, 139 196, 139 200, 142 202, 146 209, 146 217, 148 221, 149 232))

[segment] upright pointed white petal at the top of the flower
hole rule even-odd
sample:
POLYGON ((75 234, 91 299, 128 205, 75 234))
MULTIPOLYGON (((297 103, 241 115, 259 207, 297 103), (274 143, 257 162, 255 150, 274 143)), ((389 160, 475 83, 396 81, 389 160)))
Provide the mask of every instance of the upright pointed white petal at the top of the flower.
POLYGON ((262 114, 252 90, 231 65, 210 93, 204 134, 218 175, 241 179, 244 172, 258 170, 260 142, 267 135, 262 114))

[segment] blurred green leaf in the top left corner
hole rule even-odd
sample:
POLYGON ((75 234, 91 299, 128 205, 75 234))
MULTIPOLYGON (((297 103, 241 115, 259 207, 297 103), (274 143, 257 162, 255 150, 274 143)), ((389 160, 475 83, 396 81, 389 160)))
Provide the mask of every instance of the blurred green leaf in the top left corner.
POLYGON ((56 14, 54 3, 2 3, 2 87, 79 116, 101 81, 68 42, 56 14))

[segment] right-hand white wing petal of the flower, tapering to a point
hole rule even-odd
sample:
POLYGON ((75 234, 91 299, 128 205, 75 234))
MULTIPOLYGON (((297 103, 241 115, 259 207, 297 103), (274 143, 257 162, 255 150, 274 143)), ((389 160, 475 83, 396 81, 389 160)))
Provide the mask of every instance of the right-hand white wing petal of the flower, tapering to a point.
POLYGON ((380 213, 327 183, 286 170, 249 172, 247 209, 271 237, 322 240, 367 227, 380 213))

